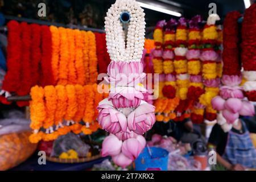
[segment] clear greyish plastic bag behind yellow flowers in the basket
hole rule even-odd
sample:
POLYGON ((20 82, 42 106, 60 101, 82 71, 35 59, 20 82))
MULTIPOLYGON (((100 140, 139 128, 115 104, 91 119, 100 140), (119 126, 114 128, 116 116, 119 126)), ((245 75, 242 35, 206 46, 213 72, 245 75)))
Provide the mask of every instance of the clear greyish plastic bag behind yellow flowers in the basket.
POLYGON ((90 146, 82 142, 79 136, 73 133, 68 133, 55 140, 51 156, 59 157, 62 152, 68 152, 68 150, 71 149, 75 150, 80 158, 83 158, 88 154, 90 146))

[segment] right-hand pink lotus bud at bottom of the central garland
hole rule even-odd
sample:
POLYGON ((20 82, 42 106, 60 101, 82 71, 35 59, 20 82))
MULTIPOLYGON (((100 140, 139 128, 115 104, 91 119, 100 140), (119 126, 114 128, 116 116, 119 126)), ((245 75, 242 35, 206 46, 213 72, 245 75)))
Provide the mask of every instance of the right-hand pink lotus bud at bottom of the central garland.
POLYGON ((141 135, 138 135, 138 137, 140 137, 140 140, 137 138, 129 138, 122 144, 122 153, 131 160, 135 160, 146 146, 146 140, 144 137, 141 135))

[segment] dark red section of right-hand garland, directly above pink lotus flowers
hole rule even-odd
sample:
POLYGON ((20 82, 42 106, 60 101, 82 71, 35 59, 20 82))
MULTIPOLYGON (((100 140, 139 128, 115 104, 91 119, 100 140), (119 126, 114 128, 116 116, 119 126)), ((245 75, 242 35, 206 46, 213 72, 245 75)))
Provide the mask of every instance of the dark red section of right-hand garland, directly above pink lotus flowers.
POLYGON ((240 48, 238 45, 238 23, 237 19, 241 14, 238 11, 232 11, 226 15, 223 30, 223 74, 240 75, 241 64, 239 61, 240 48))

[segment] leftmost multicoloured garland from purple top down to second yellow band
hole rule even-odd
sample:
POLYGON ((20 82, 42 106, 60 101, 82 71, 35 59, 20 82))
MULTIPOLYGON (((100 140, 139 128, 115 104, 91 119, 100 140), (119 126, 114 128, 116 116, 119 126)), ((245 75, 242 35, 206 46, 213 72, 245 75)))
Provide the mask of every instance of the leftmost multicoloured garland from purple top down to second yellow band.
POLYGON ((161 20, 156 23, 156 27, 154 30, 153 38, 155 41, 155 49, 153 51, 153 67, 155 73, 163 73, 163 27, 165 26, 166 21, 161 20))

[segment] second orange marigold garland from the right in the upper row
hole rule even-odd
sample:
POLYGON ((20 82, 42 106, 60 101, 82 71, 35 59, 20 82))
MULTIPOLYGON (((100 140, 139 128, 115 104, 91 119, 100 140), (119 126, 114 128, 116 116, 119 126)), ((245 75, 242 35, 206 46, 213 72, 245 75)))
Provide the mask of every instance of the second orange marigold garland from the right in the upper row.
POLYGON ((85 69, 84 66, 84 57, 83 57, 83 48, 84 40, 82 39, 82 32, 75 30, 75 44, 76 44, 76 62, 75 67, 77 71, 77 84, 85 84, 85 74, 88 72, 88 69, 85 69))

